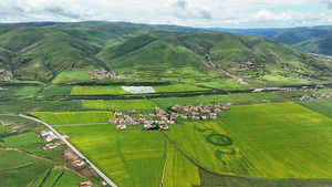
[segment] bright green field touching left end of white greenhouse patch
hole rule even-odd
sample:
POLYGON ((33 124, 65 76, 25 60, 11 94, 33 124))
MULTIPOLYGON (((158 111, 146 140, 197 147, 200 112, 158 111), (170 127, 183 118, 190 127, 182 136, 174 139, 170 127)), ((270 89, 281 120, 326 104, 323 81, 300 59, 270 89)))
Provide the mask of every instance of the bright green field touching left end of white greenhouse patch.
POLYGON ((122 95, 129 94, 121 86, 74 86, 71 95, 122 95))

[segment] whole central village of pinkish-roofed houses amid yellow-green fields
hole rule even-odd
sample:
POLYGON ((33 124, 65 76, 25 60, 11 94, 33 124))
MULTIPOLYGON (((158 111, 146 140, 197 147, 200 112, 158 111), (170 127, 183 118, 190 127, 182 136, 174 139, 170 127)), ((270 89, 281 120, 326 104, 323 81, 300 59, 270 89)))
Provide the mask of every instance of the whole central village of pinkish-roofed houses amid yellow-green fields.
POLYGON ((230 103, 218 103, 212 106, 205 104, 199 104, 197 106, 181 106, 174 105, 168 108, 169 113, 159 107, 155 108, 153 113, 144 114, 136 110, 127 110, 126 114, 123 112, 114 112, 114 120, 108 120, 110 124, 116 124, 116 129, 127 129, 127 125, 141 125, 143 124, 144 129, 169 129, 168 125, 178 125, 176 120, 180 118, 183 121, 219 121, 221 122, 218 113, 228 111, 227 106, 230 103), (139 114, 138 114, 139 113, 139 114), (134 115, 133 115, 134 114, 134 115), (135 117, 134 117, 135 116, 135 117))

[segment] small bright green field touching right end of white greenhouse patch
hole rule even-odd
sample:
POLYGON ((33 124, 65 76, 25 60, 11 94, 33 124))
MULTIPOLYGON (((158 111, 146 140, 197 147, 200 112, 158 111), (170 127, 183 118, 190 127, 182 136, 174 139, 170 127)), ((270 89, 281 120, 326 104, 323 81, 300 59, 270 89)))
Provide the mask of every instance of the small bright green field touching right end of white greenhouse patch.
POLYGON ((195 92, 195 91, 208 91, 210 89, 197 87, 188 84, 173 84, 164 86, 153 86, 158 92, 195 92))

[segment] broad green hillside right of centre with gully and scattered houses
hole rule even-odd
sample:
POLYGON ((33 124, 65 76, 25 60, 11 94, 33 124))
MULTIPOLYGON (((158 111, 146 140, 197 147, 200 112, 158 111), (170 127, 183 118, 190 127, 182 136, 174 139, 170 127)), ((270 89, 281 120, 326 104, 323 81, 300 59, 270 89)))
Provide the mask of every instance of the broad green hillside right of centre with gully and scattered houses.
POLYGON ((110 69, 133 76, 226 74, 257 82, 267 75, 300 79, 331 73, 322 61, 291 46, 256 37, 215 32, 144 34, 105 50, 100 56, 106 59, 110 69))

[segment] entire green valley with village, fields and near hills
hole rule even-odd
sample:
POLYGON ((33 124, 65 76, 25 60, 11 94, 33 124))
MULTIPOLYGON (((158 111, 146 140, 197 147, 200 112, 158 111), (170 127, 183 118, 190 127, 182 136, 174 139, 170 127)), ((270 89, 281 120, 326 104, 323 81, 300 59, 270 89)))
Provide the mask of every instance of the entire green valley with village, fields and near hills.
POLYGON ((329 59, 184 27, 0 31, 7 186, 332 185, 329 59))

